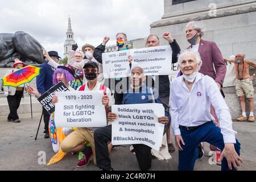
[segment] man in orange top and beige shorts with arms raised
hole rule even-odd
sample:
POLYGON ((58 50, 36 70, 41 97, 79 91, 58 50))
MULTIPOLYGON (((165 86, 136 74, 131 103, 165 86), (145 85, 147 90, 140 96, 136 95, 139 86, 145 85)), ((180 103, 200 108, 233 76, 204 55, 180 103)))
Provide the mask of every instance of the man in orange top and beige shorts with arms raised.
POLYGON ((236 90, 237 97, 240 101, 240 106, 242 110, 242 115, 240 115, 237 120, 245 121, 246 117, 246 107, 245 107, 245 98, 247 98, 249 102, 250 115, 248 121, 254 122, 254 88, 253 88, 253 79, 256 74, 256 69, 253 75, 249 75, 250 67, 256 68, 256 64, 254 61, 245 60, 245 53, 238 53, 234 59, 224 59, 225 61, 229 61, 230 63, 234 63, 236 65, 236 73, 237 73, 237 82, 236 82, 236 90))

